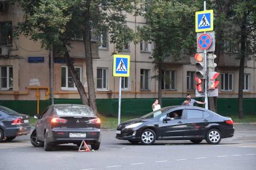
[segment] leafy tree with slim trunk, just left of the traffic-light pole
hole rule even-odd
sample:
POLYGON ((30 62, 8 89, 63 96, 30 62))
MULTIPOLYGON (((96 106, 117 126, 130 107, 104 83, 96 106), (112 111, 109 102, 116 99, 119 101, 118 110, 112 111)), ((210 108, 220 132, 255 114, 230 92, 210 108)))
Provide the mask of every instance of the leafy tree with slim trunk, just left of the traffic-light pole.
MULTIPOLYGON (((181 54, 195 49, 195 11, 197 2, 193 1, 148 1, 147 11, 143 16, 146 25, 139 27, 143 40, 155 43, 153 57, 158 70, 158 99, 161 105, 161 74, 163 59, 173 56, 176 61, 181 54)), ((190 54, 190 53, 189 53, 190 54)))

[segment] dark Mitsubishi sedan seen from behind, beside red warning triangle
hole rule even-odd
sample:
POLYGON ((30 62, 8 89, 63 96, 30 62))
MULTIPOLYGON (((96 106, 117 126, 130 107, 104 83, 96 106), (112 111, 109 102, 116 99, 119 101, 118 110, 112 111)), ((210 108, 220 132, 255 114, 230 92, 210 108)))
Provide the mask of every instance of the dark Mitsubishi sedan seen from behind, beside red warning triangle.
POLYGON ((98 150, 101 144, 101 120, 86 105, 51 105, 39 117, 30 141, 34 147, 52 150, 54 145, 82 141, 98 150))

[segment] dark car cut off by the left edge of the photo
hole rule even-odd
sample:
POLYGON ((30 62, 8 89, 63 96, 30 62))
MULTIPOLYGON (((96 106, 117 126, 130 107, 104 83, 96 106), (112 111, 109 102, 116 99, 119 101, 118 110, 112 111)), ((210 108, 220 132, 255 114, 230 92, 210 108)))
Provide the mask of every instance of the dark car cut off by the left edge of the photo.
POLYGON ((29 118, 28 115, 0 106, 0 142, 11 141, 16 136, 30 133, 29 118))

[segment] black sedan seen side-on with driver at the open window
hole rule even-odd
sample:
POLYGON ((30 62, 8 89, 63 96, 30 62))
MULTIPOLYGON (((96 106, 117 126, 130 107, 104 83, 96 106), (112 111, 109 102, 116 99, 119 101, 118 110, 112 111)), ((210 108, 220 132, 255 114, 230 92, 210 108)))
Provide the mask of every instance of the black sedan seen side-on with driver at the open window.
POLYGON ((169 106, 143 117, 119 124, 116 138, 132 144, 154 144, 155 140, 190 140, 199 144, 219 144, 234 135, 233 121, 194 106, 169 106))

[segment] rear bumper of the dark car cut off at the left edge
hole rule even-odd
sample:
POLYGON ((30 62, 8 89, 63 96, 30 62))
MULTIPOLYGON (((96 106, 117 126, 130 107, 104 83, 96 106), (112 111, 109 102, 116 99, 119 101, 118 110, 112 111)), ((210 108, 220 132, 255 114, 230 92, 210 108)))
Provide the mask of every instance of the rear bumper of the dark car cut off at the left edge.
POLYGON ((8 127, 4 130, 5 137, 28 135, 30 133, 30 126, 16 126, 8 127))

